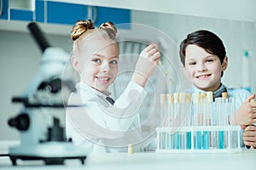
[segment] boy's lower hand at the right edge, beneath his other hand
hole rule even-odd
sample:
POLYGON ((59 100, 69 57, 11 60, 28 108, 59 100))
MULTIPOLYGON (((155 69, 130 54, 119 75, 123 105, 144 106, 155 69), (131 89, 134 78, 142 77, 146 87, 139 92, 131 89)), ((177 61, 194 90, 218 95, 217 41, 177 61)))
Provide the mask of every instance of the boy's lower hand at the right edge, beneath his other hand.
POLYGON ((256 127, 247 126, 244 129, 244 133, 242 134, 242 139, 244 144, 248 146, 253 146, 253 148, 256 148, 256 127))

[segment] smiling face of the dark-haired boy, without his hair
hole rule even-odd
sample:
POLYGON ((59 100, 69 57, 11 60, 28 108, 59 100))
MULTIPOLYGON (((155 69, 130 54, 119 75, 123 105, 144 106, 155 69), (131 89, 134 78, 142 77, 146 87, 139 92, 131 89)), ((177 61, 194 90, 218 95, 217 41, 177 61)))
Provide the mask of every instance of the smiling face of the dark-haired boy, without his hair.
POLYGON ((196 88, 214 92, 220 87, 221 74, 227 63, 227 57, 221 64, 217 55, 209 54, 199 46, 188 45, 183 71, 196 88))

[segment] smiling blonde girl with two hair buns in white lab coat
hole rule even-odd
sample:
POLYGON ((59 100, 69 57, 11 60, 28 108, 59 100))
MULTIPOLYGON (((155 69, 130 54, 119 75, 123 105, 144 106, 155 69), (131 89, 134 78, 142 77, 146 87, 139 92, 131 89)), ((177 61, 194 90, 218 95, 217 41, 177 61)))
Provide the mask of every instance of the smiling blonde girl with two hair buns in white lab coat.
POLYGON ((147 145, 141 143, 137 110, 147 94, 144 86, 158 65, 160 52, 153 45, 143 49, 131 82, 114 102, 108 87, 118 74, 116 33, 112 22, 95 28, 90 20, 77 21, 71 33, 72 65, 80 82, 68 99, 68 105, 77 107, 67 107, 67 138, 87 151, 126 150, 128 144, 140 150, 147 145))

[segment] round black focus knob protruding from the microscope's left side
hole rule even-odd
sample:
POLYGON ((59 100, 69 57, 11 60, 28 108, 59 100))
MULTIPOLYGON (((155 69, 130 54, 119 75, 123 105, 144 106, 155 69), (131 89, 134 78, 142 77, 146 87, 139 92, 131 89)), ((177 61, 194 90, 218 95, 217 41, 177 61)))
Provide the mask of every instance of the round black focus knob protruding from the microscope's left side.
POLYGON ((8 124, 10 127, 16 127, 20 131, 26 131, 29 127, 29 117, 26 113, 23 113, 9 119, 8 124))

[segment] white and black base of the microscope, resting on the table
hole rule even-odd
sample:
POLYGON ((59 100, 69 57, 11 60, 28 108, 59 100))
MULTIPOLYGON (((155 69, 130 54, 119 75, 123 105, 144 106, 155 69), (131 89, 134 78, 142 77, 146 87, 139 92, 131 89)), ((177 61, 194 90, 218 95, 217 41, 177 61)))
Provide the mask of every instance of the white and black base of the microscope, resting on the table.
POLYGON ((43 160, 45 165, 62 165, 67 159, 86 159, 85 151, 68 142, 45 142, 42 144, 20 145, 9 150, 13 165, 16 160, 43 160))

